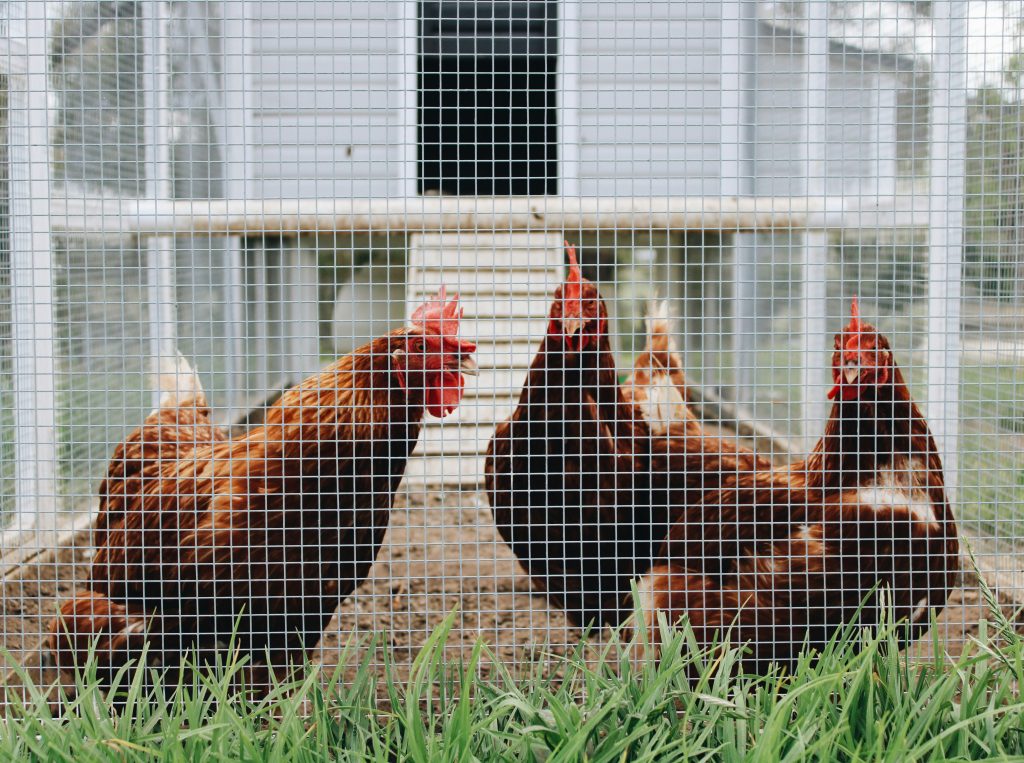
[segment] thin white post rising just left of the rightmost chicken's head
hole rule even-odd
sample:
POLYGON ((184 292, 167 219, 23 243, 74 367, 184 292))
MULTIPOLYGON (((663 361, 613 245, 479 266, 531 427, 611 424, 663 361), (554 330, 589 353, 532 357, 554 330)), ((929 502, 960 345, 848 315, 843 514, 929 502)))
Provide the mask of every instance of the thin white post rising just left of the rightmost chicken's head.
MULTIPOLYGON (((807 7, 807 37, 804 58, 807 66, 806 194, 811 201, 825 199, 825 124, 828 96, 828 2, 810 0, 807 7)), ((801 390, 804 396, 803 439, 806 450, 824 431, 828 415, 825 396, 829 380, 827 335, 828 237, 825 230, 810 229, 804 237, 804 294, 801 314, 801 390)))

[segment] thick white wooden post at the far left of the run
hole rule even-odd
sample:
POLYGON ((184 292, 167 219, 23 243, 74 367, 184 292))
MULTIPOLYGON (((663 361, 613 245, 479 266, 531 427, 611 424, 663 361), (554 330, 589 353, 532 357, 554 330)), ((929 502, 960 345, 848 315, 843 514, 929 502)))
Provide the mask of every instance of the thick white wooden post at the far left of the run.
POLYGON ((24 74, 12 76, 10 134, 11 349, 14 385, 14 529, 51 529, 57 495, 53 240, 50 134, 56 103, 49 86, 53 4, 10 4, 9 33, 24 34, 24 74))

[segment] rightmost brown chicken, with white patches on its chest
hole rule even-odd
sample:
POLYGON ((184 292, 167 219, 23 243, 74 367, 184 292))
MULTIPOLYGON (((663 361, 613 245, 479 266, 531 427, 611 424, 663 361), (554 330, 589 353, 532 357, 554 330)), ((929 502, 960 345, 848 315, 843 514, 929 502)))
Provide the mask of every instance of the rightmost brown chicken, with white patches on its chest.
MULTIPOLYGON (((669 560, 641 581, 648 626, 686 617, 711 645, 732 628, 744 668, 791 668, 889 600, 910 623, 941 609, 959 569, 956 525, 928 424, 888 340, 853 317, 836 337, 824 436, 804 461, 740 474, 674 520, 669 560), (886 591, 888 593, 883 593, 886 591)), ((652 634, 656 636, 653 629, 652 634)))

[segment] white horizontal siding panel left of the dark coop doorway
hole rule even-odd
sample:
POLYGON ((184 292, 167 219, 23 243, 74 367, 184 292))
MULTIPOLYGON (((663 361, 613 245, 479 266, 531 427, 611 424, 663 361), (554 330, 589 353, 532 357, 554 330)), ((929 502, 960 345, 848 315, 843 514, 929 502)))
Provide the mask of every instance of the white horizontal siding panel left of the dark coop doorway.
POLYGON ((402 2, 250 2, 249 166, 264 198, 400 196, 402 2))

